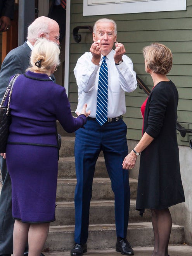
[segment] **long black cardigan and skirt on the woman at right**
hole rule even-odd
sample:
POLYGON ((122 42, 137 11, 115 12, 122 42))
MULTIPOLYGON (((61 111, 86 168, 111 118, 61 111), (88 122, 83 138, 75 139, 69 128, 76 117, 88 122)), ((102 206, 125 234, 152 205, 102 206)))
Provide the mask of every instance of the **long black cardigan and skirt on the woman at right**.
POLYGON ((144 115, 144 132, 154 140, 142 151, 136 209, 163 209, 184 202, 176 136, 178 92, 172 81, 151 91, 144 115))

